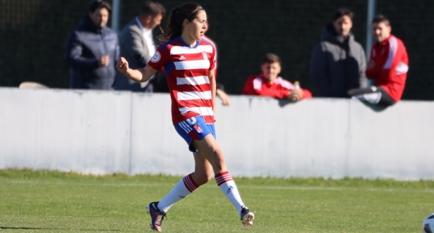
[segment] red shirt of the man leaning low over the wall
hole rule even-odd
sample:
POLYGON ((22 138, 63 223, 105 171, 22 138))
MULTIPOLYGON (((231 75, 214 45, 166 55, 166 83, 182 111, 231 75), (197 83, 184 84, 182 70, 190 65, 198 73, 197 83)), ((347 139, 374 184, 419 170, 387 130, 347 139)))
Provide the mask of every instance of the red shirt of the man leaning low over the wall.
MULTIPOLYGON (((248 77, 248 80, 244 85, 243 94, 286 99, 289 96, 289 91, 291 89, 294 89, 294 84, 282 79, 282 77, 277 77, 275 82, 270 84, 270 82, 265 79, 264 75, 260 74, 248 77)), ((303 99, 312 98, 311 92, 306 89, 301 90, 303 90, 303 99)))

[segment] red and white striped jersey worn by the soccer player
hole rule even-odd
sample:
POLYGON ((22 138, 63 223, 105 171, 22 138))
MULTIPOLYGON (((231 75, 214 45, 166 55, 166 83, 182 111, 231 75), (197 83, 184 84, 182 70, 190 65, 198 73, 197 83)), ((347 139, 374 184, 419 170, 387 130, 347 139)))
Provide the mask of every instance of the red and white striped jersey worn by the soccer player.
POLYGON ((196 115, 214 124, 209 73, 215 68, 215 48, 210 42, 200 40, 191 47, 177 37, 159 46, 147 65, 164 67, 174 125, 196 115))

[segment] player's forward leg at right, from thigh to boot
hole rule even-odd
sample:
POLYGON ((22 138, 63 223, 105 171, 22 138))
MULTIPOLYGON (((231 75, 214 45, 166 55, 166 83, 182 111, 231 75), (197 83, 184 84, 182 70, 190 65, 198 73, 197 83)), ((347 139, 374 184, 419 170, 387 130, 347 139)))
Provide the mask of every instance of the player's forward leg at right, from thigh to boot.
POLYGON ((212 134, 208 134, 201 140, 193 140, 192 144, 212 165, 217 185, 240 214, 244 227, 253 225, 254 215, 241 200, 238 188, 227 170, 222 150, 212 134))

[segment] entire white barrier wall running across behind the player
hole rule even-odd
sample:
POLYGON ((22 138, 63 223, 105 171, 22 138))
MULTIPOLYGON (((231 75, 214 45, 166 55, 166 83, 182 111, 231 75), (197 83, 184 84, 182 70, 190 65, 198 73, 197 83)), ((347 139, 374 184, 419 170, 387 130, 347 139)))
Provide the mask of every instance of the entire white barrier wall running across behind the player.
MULTIPOLYGON (((0 88, 0 169, 185 175, 169 94, 0 88)), ((434 179, 434 102, 385 110, 349 99, 217 100, 234 176, 434 179)))

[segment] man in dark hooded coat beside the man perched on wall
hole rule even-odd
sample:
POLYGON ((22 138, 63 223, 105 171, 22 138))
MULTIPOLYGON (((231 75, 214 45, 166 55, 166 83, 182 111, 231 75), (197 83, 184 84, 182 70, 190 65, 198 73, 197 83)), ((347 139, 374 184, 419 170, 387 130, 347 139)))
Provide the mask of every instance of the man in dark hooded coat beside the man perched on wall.
POLYGON ((321 33, 311 59, 314 96, 349 97, 350 89, 366 87, 366 58, 351 34, 354 13, 339 8, 321 33))

